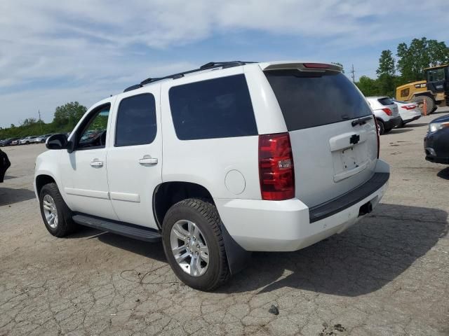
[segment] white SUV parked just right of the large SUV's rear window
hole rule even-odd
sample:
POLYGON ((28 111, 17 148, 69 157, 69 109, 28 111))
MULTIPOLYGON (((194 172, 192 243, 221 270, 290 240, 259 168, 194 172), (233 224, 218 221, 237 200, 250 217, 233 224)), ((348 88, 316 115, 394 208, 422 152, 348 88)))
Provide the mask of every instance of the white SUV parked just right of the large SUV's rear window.
POLYGON ((373 109, 380 135, 402 125, 398 106, 389 97, 366 97, 366 100, 373 109))

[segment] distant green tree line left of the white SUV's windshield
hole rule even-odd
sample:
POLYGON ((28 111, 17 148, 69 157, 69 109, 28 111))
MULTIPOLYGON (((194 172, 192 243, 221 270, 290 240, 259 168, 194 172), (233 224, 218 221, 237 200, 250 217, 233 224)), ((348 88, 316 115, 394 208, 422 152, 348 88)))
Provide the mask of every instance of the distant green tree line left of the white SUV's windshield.
POLYGON ((42 120, 36 118, 27 118, 20 125, 11 124, 8 128, 0 127, 0 139, 70 132, 86 111, 86 106, 79 102, 69 102, 55 109, 51 123, 43 123, 42 120))

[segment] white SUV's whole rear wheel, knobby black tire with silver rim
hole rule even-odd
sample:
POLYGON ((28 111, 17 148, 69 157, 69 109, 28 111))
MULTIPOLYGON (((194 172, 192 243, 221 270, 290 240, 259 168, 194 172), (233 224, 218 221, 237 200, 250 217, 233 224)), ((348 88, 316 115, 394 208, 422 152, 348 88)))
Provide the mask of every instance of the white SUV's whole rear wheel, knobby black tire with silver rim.
POLYGON ((214 204, 194 198, 176 203, 163 218, 168 263, 187 286, 207 291, 229 279, 221 224, 214 204))

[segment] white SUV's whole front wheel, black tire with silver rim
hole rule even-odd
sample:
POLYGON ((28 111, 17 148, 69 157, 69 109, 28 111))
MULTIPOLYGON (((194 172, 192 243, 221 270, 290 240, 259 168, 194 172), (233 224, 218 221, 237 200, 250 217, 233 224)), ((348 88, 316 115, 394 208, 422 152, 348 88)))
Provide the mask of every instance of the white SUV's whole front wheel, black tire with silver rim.
POLYGON ((56 183, 48 183, 39 193, 39 204, 43 223, 55 237, 65 237, 76 230, 72 211, 65 204, 56 183))

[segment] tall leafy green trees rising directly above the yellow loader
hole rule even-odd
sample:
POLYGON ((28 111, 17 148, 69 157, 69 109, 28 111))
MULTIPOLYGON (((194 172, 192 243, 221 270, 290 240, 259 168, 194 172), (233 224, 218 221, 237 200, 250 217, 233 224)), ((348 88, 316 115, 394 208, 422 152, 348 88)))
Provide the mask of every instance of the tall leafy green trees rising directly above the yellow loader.
POLYGON ((425 68, 449 62, 449 48, 445 43, 425 37, 413 38, 410 45, 400 43, 396 55, 403 82, 423 80, 425 68))

